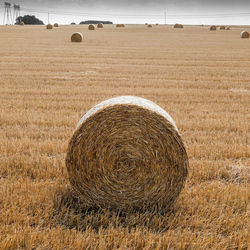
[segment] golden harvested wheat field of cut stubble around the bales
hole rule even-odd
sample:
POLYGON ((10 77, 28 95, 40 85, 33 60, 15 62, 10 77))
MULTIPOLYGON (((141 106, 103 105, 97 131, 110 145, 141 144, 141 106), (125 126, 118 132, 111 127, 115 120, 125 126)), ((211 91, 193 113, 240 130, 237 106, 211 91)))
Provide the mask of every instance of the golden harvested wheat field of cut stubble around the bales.
POLYGON ((250 43, 241 31, 0 26, 0 249, 247 249, 250 43), (75 32, 82 43, 71 43, 75 32), (184 142, 188 176, 166 210, 89 206, 72 191, 65 159, 76 124, 121 95, 158 104, 184 142))

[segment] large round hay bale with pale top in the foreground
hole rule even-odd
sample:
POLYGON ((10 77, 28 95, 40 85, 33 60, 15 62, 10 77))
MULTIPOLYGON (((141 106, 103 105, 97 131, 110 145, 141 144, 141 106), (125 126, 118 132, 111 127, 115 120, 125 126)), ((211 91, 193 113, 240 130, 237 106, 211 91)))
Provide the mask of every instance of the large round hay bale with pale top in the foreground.
POLYGON ((121 96, 81 118, 66 166, 74 191, 88 206, 161 209, 181 192, 188 156, 165 110, 143 98, 121 96))

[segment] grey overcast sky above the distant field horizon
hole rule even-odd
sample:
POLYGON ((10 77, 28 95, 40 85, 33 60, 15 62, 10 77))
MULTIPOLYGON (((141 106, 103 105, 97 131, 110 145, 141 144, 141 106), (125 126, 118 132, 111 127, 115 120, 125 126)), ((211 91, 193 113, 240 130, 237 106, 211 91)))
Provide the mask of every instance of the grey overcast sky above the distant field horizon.
MULTIPOLYGON (((20 4, 21 15, 33 14, 45 23, 48 22, 48 15, 42 13, 45 11, 52 12, 51 23, 73 21, 78 23, 87 19, 110 20, 115 23, 164 23, 166 11, 167 23, 250 24, 250 14, 242 14, 250 13, 250 0, 9 0, 9 2, 20 4)), ((3 19, 3 1, 0 6, 0 18, 3 19)))

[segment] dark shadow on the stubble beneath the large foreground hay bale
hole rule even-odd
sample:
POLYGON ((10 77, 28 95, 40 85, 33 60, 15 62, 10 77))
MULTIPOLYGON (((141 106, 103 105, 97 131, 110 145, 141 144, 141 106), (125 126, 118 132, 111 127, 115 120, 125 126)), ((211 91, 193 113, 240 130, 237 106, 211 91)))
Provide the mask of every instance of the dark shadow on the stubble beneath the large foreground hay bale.
POLYGON ((141 212, 90 207, 83 204, 70 188, 57 191, 53 203, 51 226, 60 225, 78 231, 90 228, 98 232, 99 229, 111 227, 132 231, 141 227, 159 233, 169 229, 178 211, 178 207, 161 213, 156 210, 141 212))

